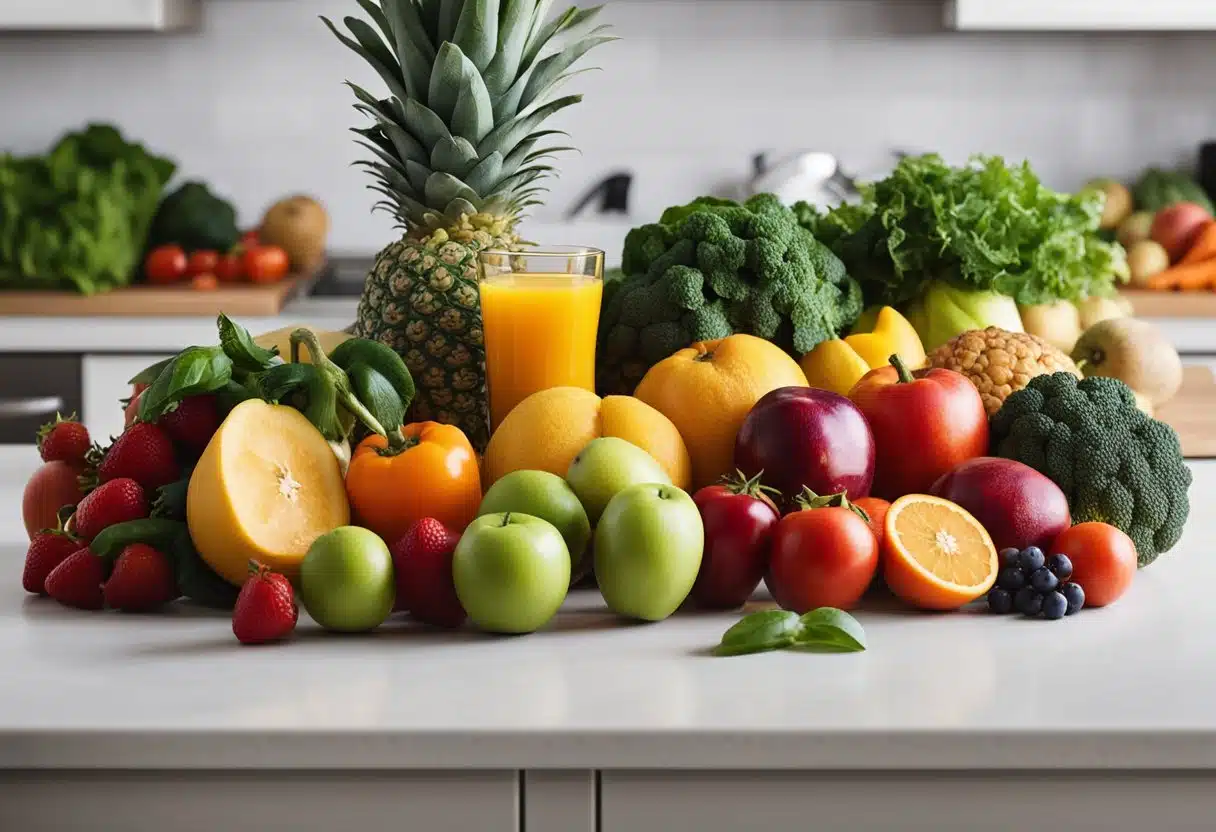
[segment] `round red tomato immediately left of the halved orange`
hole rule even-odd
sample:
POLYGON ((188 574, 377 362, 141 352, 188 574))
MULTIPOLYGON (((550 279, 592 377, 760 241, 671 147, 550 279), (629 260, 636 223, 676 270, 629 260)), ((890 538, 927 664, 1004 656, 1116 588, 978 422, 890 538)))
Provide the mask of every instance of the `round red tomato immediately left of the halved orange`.
POLYGON ((878 541, 866 521, 839 506, 786 515, 772 536, 765 585, 784 609, 854 607, 878 568, 878 541))

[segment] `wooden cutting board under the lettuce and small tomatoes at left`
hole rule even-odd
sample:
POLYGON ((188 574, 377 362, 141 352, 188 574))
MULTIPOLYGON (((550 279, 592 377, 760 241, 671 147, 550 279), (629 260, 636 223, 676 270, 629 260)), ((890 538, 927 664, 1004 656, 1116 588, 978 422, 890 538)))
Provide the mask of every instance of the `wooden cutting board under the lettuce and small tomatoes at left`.
POLYGON ((220 283, 210 291, 188 285, 126 286, 101 294, 73 292, 0 292, 0 315, 44 317, 193 317, 271 316, 313 282, 313 275, 288 275, 277 283, 220 283))

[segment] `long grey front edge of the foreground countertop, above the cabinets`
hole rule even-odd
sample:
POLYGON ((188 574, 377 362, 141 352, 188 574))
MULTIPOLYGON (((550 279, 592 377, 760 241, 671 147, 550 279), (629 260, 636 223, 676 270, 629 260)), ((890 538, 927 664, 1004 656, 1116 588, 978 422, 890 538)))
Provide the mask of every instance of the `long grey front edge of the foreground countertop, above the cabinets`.
POLYGON ((5 770, 1216 770, 1216 732, 6 731, 5 770))

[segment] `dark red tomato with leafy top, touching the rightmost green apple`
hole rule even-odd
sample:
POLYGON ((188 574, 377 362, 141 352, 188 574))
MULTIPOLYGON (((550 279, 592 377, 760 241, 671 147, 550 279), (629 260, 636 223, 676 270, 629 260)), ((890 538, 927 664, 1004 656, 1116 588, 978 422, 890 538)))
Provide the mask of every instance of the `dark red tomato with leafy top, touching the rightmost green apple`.
POLYGON ((692 500, 705 525, 705 552, 692 598, 703 607, 738 607, 764 578, 777 510, 759 479, 706 485, 692 500))

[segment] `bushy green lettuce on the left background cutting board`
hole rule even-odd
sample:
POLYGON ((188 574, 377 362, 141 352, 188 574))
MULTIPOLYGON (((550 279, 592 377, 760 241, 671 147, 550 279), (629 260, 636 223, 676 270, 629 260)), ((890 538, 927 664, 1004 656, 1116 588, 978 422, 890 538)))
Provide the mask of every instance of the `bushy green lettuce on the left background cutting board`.
POLYGON ((0 154, 0 288, 92 294, 129 283, 174 169, 105 124, 46 156, 0 154))

